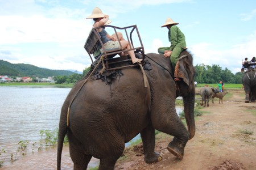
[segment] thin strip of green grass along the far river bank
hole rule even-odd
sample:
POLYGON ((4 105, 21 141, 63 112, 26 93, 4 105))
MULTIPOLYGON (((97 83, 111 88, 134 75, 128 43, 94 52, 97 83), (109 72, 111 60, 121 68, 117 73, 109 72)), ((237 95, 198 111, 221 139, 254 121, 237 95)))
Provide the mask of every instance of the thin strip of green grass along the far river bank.
POLYGON ((47 87, 73 87, 73 83, 55 84, 55 83, 0 83, 1 86, 47 86, 47 87))

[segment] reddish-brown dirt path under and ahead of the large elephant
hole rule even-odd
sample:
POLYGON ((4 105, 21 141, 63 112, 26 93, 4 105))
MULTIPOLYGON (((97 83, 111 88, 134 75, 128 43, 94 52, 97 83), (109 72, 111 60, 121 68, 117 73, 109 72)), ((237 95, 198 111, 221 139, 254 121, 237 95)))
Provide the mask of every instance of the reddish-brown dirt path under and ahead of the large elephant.
POLYGON ((242 90, 227 91, 231 95, 223 104, 210 101, 206 113, 196 118, 196 135, 188 141, 183 160, 166 149, 172 137, 160 134, 155 150, 162 154, 161 162, 146 164, 140 145, 126 151, 115 169, 256 169, 256 103, 244 103, 242 90))

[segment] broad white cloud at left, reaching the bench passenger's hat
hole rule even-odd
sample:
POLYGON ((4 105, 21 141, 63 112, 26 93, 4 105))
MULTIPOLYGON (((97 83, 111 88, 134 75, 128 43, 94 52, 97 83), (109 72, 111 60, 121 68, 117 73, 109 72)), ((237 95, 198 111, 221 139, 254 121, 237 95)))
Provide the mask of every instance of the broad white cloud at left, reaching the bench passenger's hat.
POLYGON ((91 29, 89 21, 52 19, 34 15, 0 16, 0 44, 27 42, 75 42, 87 36, 91 29))

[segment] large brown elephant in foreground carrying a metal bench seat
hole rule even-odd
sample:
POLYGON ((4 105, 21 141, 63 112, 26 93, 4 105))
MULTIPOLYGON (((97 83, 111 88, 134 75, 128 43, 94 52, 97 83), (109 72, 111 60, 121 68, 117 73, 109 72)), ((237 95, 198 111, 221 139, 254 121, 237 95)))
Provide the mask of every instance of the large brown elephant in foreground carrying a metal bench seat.
POLYGON ((170 58, 146 54, 147 69, 94 71, 75 84, 61 108, 57 147, 57 169, 61 168, 61 152, 67 134, 74 169, 86 169, 92 156, 100 159, 99 169, 114 169, 117 159, 129 142, 141 134, 146 163, 159 162, 155 151, 155 130, 174 138, 167 149, 182 159, 184 148, 195 135, 195 69, 189 52, 181 53, 181 70, 185 82, 175 82, 170 58), (183 70, 184 71, 184 70, 183 70), (91 76, 90 76, 91 75, 91 76), (147 87, 143 79, 147 79, 147 87), (177 96, 183 97, 187 128, 175 109, 177 96))

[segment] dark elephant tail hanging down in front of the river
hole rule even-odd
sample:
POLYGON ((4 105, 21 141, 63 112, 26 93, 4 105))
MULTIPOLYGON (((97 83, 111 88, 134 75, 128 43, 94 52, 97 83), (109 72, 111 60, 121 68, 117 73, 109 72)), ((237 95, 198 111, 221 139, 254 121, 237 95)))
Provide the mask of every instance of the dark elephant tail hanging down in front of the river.
POLYGON ((67 119, 65 121, 60 121, 59 124, 59 135, 58 135, 58 147, 57 147, 57 169, 61 169, 61 154, 63 149, 63 143, 65 135, 68 132, 67 119))

